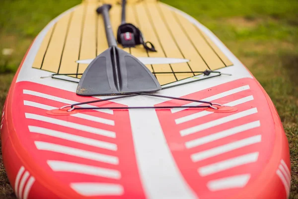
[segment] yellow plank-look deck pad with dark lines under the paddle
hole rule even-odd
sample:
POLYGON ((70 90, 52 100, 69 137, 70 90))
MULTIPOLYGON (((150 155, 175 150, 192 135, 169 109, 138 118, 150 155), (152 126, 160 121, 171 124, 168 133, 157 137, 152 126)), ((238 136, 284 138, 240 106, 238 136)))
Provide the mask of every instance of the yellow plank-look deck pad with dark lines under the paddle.
MULTIPOLYGON (((58 20, 47 33, 32 67, 60 74, 83 73, 88 64, 77 64, 76 61, 94 59, 108 48, 102 16, 95 11, 102 3, 113 4, 110 17, 116 35, 121 21, 119 1, 85 0, 58 20)), ((128 0, 126 9, 127 22, 139 27, 145 39, 157 50, 148 52, 140 45, 124 48, 126 52, 136 57, 190 60, 188 63, 147 65, 151 72, 173 72, 155 75, 161 85, 192 77, 198 74, 193 73, 196 71, 232 65, 208 36, 165 4, 155 0, 128 0)))

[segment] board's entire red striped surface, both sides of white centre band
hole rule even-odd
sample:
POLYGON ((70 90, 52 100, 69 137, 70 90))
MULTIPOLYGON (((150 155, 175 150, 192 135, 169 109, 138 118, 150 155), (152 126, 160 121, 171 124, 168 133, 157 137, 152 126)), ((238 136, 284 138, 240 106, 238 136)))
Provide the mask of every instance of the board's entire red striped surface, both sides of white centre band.
MULTIPOLYGON (((92 99, 30 82, 12 88, 2 116, 1 138, 5 168, 17 196, 146 198, 128 110, 53 115, 47 109, 67 105, 68 100, 92 99), (102 120, 94 122, 90 116, 102 120), (76 170, 87 165, 93 173, 63 171, 70 163, 76 170), (80 183, 103 186, 105 192, 91 196, 92 191, 84 191, 80 183)), ((199 198, 245 198, 252 189, 253 198, 287 197, 291 178, 288 143, 274 106, 254 79, 236 80, 183 98, 214 98, 212 102, 237 109, 156 110, 165 144, 199 198), (267 189, 255 189, 259 186, 267 189)), ((169 100, 156 106, 187 103, 169 100)), ((123 106, 115 102, 93 105, 123 106)))

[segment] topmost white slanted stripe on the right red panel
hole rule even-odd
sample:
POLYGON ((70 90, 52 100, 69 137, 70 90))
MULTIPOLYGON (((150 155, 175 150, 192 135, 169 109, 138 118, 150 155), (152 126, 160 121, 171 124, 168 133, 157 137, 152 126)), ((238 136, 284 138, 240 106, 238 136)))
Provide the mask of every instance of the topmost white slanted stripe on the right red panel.
MULTIPOLYGON (((220 98, 224 98, 226 96, 229 96, 229 95, 232 95, 232 94, 235 94, 235 93, 238 93, 238 92, 241 92, 241 91, 245 91, 245 90, 248 90, 249 89, 249 86, 246 85, 246 86, 243 86, 243 87, 238 87, 236 89, 232 89, 232 90, 229 90, 229 91, 225 91, 223 93, 220 93, 220 94, 217 94, 217 95, 214 95, 214 96, 211 96, 211 97, 208 97, 208 98, 205 98, 205 99, 202 99, 202 101, 212 101, 212 100, 218 100, 220 98)), ((188 104, 185 104, 185 105, 182 105, 182 106, 188 106, 188 105, 200 105, 202 103, 199 103, 199 102, 191 102, 191 103, 188 103, 188 104)), ((172 113, 175 113, 175 112, 179 112, 181 110, 185 110, 187 108, 172 108, 171 109, 171 112, 172 113)))

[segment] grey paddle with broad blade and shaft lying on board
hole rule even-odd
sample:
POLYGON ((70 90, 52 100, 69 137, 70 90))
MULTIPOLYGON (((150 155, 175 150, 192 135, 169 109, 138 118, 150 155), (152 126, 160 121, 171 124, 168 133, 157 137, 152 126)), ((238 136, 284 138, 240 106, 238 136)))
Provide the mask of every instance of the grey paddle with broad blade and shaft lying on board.
POLYGON ((110 8, 110 4, 103 4, 96 10, 103 16, 109 48, 88 65, 78 83, 76 94, 102 96, 161 90, 154 75, 142 62, 117 47, 109 17, 110 8))

